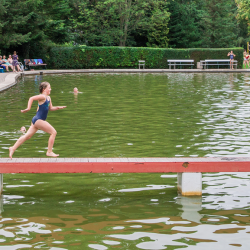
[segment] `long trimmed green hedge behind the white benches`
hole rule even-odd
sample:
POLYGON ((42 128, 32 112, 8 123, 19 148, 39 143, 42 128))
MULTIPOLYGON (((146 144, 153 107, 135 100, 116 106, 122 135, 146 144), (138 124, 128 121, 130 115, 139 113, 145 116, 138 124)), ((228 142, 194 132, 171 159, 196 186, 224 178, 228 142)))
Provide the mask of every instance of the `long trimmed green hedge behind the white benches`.
POLYGON ((53 69, 126 69, 138 68, 138 60, 146 61, 148 69, 167 69, 168 59, 229 59, 233 50, 238 68, 243 63, 243 48, 218 49, 161 49, 134 47, 53 47, 47 54, 46 62, 53 69))

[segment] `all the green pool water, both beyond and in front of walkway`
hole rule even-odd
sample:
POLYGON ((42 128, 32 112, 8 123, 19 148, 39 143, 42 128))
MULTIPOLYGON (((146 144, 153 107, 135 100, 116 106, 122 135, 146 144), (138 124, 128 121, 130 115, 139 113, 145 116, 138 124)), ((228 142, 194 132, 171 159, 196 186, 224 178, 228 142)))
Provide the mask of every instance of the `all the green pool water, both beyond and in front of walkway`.
MULTIPOLYGON (((20 112, 52 85, 63 157, 248 155, 250 77, 105 74, 26 77, 0 94, 0 157, 29 127, 20 112), (77 87, 83 92, 74 95, 77 87)), ((37 133, 15 157, 45 156, 37 133)), ((177 195, 176 174, 5 174, 3 249, 249 249, 249 173, 204 173, 202 197, 177 195)))

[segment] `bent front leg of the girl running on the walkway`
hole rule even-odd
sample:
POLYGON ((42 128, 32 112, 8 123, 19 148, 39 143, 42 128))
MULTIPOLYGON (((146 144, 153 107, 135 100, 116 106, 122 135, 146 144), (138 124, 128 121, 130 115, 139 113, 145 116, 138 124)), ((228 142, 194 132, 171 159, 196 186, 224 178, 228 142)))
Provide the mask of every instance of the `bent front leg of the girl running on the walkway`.
POLYGON ((49 137, 49 142, 48 142, 48 151, 46 153, 47 156, 52 156, 52 157, 57 157, 59 156, 59 154, 55 154, 53 153, 53 145, 55 142, 55 138, 56 138, 56 130, 46 121, 43 120, 37 120, 35 123, 35 126, 37 129, 41 129, 42 131, 50 134, 49 137))

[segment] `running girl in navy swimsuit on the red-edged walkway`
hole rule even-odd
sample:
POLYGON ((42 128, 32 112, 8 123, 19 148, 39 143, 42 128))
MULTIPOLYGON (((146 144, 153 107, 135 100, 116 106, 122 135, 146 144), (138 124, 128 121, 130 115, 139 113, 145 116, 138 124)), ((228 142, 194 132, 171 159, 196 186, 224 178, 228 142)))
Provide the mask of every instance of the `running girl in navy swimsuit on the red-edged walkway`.
POLYGON ((30 128, 28 129, 27 133, 23 136, 21 136, 16 143, 14 144, 13 147, 9 148, 9 156, 12 159, 12 155, 14 154, 15 150, 21 146, 26 140, 30 139, 38 129, 43 130, 46 133, 50 134, 49 137, 49 142, 48 142, 48 150, 46 155, 47 156, 52 156, 52 157, 57 157, 59 156, 58 154, 55 154, 52 152, 55 137, 56 137, 56 130, 48 123, 46 122, 47 114, 48 111, 55 111, 58 109, 64 109, 66 106, 57 106, 53 107, 51 98, 49 97, 50 92, 51 92, 51 87, 48 82, 42 82, 39 86, 39 91, 40 95, 35 95, 30 97, 28 101, 28 106, 26 109, 21 110, 22 113, 26 113, 30 110, 33 101, 38 101, 38 108, 36 115, 32 119, 32 123, 30 128))

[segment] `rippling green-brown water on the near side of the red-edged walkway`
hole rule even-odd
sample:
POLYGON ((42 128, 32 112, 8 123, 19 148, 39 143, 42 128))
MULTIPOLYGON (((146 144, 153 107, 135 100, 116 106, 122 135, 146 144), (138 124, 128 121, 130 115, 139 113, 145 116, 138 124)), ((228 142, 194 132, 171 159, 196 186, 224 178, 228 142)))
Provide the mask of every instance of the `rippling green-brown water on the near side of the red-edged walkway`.
POLYGON ((248 249, 247 179, 247 173, 204 174, 202 197, 180 197, 175 174, 9 174, 0 246, 248 249))

